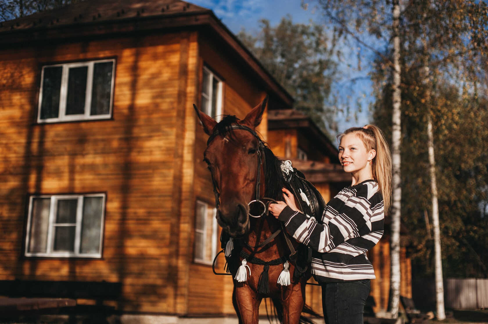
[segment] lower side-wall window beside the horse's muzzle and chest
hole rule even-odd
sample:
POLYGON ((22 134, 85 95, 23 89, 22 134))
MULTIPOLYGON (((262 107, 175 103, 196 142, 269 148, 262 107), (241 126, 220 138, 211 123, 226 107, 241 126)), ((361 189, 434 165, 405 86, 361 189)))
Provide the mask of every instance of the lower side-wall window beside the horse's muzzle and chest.
POLYGON ((212 264, 217 253, 217 210, 197 200, 195 212, 195 262, 212 264))

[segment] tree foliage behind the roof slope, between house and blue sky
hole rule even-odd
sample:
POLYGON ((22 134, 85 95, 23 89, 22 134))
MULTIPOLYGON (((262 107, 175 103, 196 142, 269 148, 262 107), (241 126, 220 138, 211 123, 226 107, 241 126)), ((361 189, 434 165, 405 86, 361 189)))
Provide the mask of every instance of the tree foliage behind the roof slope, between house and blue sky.
POLYGON ((238 37, 296 100, 295 109, 310 116, 322 130, 335 131, 334 111, 327 99, 337 64, 321 25, 295 24, 288 16, 272 27, 262 19, 259 33, 242 30, 238 37))

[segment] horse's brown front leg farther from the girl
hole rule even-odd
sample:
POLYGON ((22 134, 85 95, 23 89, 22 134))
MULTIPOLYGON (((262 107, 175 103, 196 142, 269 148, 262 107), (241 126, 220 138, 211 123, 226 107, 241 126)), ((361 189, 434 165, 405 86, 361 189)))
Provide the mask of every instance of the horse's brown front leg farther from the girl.
POLYGON ((262 299, 257 298, 256 293, 246 282, 234 281, 234 296, 236 311, 240 319, 239 323, 257 324, 259 321, 259 305, 262 299))

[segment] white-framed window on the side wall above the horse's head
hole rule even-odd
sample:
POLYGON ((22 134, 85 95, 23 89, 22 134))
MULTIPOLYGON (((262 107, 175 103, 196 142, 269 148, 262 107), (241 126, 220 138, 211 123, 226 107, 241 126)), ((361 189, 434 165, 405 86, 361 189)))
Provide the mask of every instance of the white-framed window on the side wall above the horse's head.
POLYGON ((222 81, 206 67, 203 67, 202 111, 214 119, 222 114, 222 81))

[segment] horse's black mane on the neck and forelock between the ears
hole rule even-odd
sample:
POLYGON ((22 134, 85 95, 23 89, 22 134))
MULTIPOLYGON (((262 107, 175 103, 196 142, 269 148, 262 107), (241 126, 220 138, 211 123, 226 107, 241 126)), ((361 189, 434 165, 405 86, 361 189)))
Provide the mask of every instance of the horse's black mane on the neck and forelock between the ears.
MULTIPOLYGON (((220 135, 229 138, 229 140, 234 140, 232 138, 231 130, 232 124, 237 124, 240 119, 234 115, 225 115, 222 120, 215 125, 212 133, 219 132, 220 135)), ((267 143, 263 141, 264 144, 264 196, 267 198, 273 198, 274 200, 284 200, 282 188, 285 187, 285 179, 283 177, 283 172, 281 171, 282 160, 277 158, 271 149, 267 146, 267 143)))

